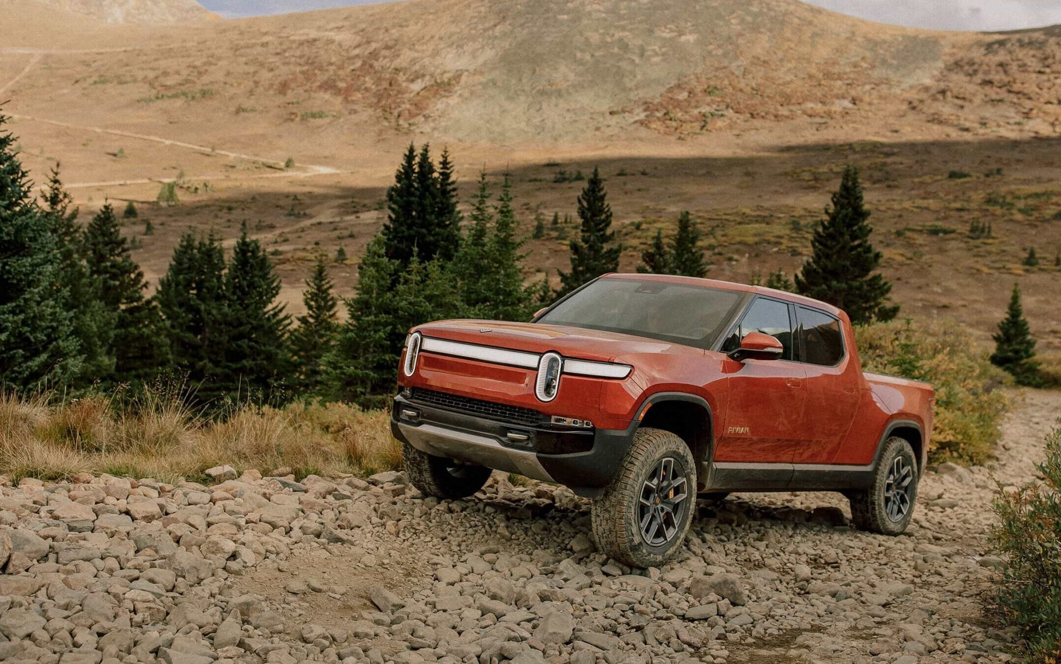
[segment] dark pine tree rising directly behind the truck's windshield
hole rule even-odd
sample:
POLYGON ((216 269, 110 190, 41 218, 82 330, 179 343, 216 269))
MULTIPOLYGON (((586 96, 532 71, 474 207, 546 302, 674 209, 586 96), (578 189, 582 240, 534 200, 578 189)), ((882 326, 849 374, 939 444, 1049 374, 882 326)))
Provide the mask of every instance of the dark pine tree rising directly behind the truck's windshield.
POLYGON ((593 175, 578 196, 578 216, 581 220, 581 237, 571 241, 571 272, 560 273, 560 295, 619 269, 619 255, 623 247, 614 244, 611 206, 608 205, 608 193, 597 168, 593 169, 593 175))

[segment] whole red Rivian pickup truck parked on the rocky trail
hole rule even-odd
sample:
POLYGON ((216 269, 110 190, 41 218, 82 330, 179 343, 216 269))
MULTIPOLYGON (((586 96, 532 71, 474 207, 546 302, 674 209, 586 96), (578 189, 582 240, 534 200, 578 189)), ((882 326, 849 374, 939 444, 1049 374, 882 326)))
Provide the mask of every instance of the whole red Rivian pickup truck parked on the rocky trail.
POLYGON ((530 322, 414 328, 392 430, 414 486, 471 495, 491 469, 593 499, 597 546, 658 566, 698 495, 840 491, 856 526, 910 521, 929 385, 864 373, 847 315, 708 279, 606 275, 530 322))

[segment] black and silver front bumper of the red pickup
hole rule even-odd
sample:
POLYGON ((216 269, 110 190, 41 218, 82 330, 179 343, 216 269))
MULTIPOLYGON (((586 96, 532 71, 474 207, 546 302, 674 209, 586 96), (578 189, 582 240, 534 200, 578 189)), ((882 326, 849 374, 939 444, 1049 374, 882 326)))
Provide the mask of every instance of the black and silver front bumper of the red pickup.
POLYGON ((581 494, 608 486, 637 430, 578 430, 509 423, 398 396, 390 409, 395 438, 434 456, 562 484, 581 494), (558 450, 577 449, 578 452, 558 450), (543 452, 547 450, 549 452, 543 452))

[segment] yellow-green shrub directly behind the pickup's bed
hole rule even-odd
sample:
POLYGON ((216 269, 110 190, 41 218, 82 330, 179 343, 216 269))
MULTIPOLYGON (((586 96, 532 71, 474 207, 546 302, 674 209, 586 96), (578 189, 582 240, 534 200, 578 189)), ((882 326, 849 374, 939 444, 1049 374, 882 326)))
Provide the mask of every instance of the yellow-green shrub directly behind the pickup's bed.
POLYGON ((956 322, 884 322, 855 328, 863 369, 930 383, 936 417, 933 462, 980 464, 991 457, 1008 380, 956 322))

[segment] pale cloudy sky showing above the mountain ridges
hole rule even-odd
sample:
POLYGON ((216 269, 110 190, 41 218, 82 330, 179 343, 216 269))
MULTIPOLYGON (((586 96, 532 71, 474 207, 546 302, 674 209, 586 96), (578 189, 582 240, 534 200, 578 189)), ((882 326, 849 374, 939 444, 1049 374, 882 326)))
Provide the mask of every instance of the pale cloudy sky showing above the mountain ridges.
MULTIPOLYGON (((225 18, 306 12, 379 0, 199 0, 225 18)), ((1020 30, 1061 23, 1061 0, 804 0, 883 23, 933 30, 1020 30)))

